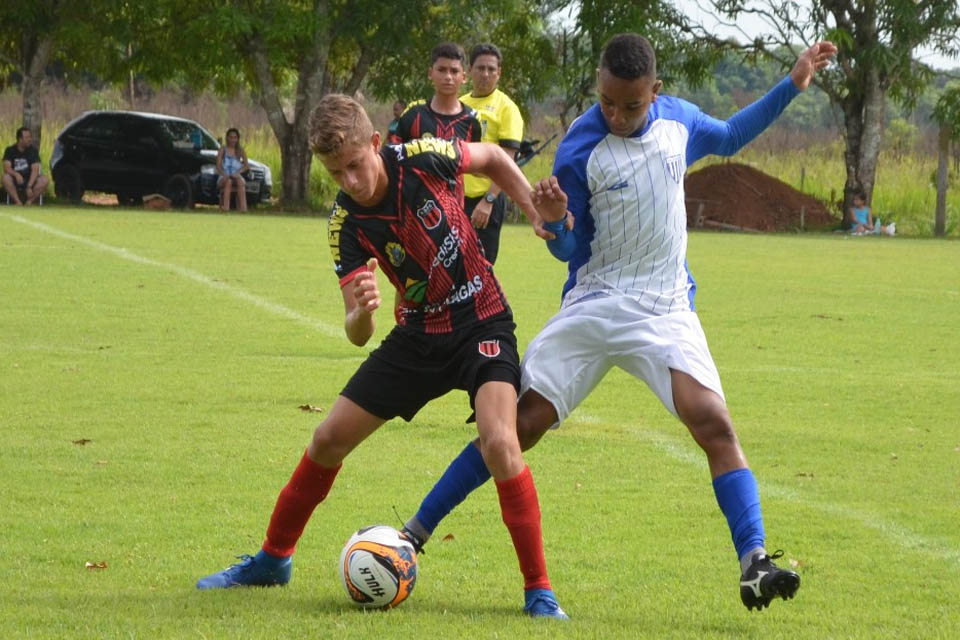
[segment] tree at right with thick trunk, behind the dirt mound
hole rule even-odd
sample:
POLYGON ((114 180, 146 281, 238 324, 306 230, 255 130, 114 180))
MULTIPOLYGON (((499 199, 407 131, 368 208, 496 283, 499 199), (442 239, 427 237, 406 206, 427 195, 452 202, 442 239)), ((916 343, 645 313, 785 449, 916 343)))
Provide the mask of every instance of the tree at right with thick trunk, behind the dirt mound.
POLYGON ((771 31, 745 45, 718 38, 702 25, 692 33, 717 45, 761 54, 784 70, 819 39, 839 47, 837 64, 814 82, 843 113, 844 209, 857 191, 868 197, 873 192, 888 97, 909 107, 933 75, 914 58, 916 50, 960 54, 960 8, 955 0, 711 0, 711 4, 730 21, 729 27, 737 28, 744 16, 755 16, 771 31), (777 53, 777 47, 785 47, 790 55, 777 53))

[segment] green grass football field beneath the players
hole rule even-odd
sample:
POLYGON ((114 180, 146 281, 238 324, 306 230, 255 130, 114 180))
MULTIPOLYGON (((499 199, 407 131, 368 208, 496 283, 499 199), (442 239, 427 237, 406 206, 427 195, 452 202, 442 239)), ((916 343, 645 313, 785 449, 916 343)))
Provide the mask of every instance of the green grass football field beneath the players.
MULTIPOLYGON (((198 577, 257 549, 320 418, 299 405, 329 407, 365 357, 342 337, 325 232, 319 219, 212 210, 0 208, 0 637, 960 628, 960 243, 904 238, 690 238, 768 547, 802 575, 795 600, 743 608, 703 455, 621 372, 527 455, 570 623, 521 615, 489 486, 441 523, 400 608, 364 613, 342 591, 350 533, 412 513, 471 437, 460 393, 348 458, 288 587, 197 592, 198 577)), ((563 267, 525 227, 505 230, 500 256, 525 345, 557 306, 563 267)))

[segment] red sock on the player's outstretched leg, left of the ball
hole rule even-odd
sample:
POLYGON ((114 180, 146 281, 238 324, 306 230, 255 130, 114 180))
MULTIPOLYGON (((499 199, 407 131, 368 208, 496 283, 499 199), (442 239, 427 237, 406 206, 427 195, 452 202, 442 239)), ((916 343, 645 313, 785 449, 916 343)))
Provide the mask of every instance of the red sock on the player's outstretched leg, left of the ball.
POLYGON ((264 551, 280 558, 293 555, 310 515, 327 497, 342 466, 339 464, 333 469, 321 467, 306 452, 303 453, 300 464, 294 469, 273 508, 267 539, 263 543, 264 551))

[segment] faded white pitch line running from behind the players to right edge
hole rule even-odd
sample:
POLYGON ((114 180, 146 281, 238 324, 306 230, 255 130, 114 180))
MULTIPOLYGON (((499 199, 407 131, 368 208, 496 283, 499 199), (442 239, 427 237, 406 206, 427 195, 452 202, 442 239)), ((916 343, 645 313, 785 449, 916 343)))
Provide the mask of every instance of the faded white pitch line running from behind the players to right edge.
MULTIPOLYGON (((599 423, 603 422, 599 418, 577 412, 571 416, 573 421, 599 423)), ((692 446, 682 444, 677 438, 673 438, 660 433, 650 431, 641 431, 631 429, 630 432, 641 440, 646 440, 653 444, 657 449, 663 451, 674 460, 690 464, 703 471, 707 470, 707 458, 702 451, 692 446)), ((896 522, 883 520, 875 513, 860 511, 846 505, 838 505, 821 500, 813 501, 804 498, 792 489, 778 486, 770 482, 760 482, 761 495, 775 497, 780 500, 788 500, 802 504, 805 507, 820 509, 831 516, 837 518, 850 518, 869 529, 873 529, 885 536, 889 541, 899 545, 904 549, 917 551, 933 555, 941 560, 946 560, 952 564, 960 566, 960 550, 951 547, 949 544, 925 538, 920 534, 911 531, 903 525, 896 522)))

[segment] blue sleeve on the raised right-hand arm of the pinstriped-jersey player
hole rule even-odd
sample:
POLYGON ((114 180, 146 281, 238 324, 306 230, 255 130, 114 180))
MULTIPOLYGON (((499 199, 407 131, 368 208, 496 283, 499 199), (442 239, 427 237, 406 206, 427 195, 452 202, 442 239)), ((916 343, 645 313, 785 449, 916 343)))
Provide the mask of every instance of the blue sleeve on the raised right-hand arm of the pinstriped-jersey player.
POLYGON ((735 154, 769 127, 799 93, 793 80, 787 76, 766 95, 735 113, 729 120, 717 120, 699 112, 693 135, 687 143, 687 166, 709 154, 735 154))

